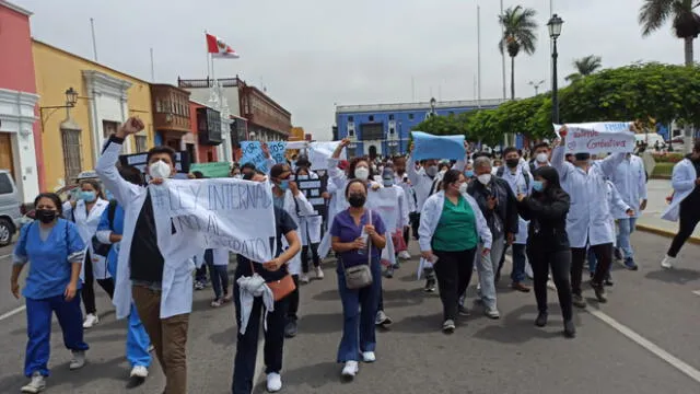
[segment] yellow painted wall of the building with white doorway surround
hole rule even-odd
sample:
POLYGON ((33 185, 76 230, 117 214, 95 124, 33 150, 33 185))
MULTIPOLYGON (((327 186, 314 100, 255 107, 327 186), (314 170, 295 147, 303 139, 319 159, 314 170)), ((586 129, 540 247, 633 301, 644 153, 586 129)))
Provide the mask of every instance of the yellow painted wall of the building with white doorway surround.
MULTIPOLYGON (((127 91, 128 116, 138 116, 145 124, 147 147, 153 146, 153 113, 151 89, 149 83, 109 69, 94 61, 81 58, 60 48, 33 40, 36 91, 39 94, 38 106, 59 106, 66 103, 66 90, 73 88, 79 93, 74 107, 70 108, 70 117, 80 125, 82 170, 94 167, 97 158, 94 153, 95 138, 91 116, 94 116, 92 99, 82 71, 94 70, 131 83, 127 91)), ((65 179, 63 150, 60 124, 67 119, 67 109, 43 109, 42 141, 43 165, 46 171, 45 190, 54 190, 70 181, 65 179)), ((128 143, 126 151, 136 151, 135 141, 128 143)))

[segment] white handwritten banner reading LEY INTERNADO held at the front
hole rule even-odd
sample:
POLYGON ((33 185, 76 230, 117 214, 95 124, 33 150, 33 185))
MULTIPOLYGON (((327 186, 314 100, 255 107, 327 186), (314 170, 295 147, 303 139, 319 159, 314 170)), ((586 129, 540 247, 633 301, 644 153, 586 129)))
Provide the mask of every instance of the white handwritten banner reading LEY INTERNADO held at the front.
POLYGON ((168 179, 149 187, 158 244, 166 262, 182 262, 206 248, 228 248, 253 262, 272 258, 276 229, 269 184, 168 179))

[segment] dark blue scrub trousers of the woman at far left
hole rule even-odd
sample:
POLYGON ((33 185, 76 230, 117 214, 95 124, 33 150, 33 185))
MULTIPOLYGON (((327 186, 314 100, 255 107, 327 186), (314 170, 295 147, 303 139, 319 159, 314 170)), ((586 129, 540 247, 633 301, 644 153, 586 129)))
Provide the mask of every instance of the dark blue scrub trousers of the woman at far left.
POLYGON ((56 313, 58 324, 63 332, 63 345, 72 351, 88 350, 83 340, 83 312, 80 309, 80 291, 75 298, 66 301, 63 294, 47 299, 26 299, 26 355, 24 374, 30 378, 34 372, 48 376, 50 354, 51 313, 56 313))

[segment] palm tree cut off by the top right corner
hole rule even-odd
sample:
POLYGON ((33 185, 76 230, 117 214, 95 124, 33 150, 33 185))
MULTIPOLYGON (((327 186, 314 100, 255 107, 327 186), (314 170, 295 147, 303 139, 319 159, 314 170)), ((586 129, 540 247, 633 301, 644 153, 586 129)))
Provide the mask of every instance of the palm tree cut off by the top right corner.
POLYGON ((686 66, 692 66, 692 40, 700 34, 700 15, 692 10, 699 5, 699 0, 644 0, 639 10, 642 36, 652 34, 672 19, 676 37, 685 40, 686 66))

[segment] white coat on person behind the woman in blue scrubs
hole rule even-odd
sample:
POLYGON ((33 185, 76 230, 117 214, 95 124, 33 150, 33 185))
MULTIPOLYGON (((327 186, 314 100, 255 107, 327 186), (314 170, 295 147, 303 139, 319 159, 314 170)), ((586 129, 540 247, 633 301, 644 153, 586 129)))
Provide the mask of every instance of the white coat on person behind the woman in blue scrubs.
MULTIPOLYGON (((102 220, 102 212, 107 209, 109 201, 102 198, 97 198, 95 205, 90 210, 90 213, 85 210, 85 201, 75 201, 75 209, 73 209, 70 201, 63 202, 63 217, 71 220, 74 218, 75 227, 80 233, 81 240, 88 246, 90 252, 90 259, 92 260, 92 273, 95 279, 107 279, 110 275, 107 270, 107 258, 95 254, 92 247, 92 237, 97 232, 100 220, 102 220)), ((80 268, 80 279, 85 280, 85 265, 80 268)))

